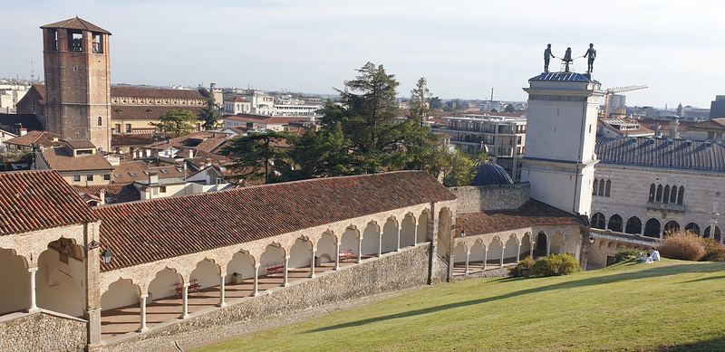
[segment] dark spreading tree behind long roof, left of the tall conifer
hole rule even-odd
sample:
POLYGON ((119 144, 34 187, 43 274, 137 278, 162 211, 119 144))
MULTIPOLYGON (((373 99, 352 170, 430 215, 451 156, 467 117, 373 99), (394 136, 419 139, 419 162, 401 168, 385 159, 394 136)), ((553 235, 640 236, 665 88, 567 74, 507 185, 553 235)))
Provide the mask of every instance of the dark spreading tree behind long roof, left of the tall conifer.
POLYGON ((237 170, 246 184, 257 180, 269 184, 287 179, 292 172, 291 159, 283 146, 294 142, 295 136, 289 132, 271 130, 232 138, 221 152, 238 157, 230 168, 237 170))

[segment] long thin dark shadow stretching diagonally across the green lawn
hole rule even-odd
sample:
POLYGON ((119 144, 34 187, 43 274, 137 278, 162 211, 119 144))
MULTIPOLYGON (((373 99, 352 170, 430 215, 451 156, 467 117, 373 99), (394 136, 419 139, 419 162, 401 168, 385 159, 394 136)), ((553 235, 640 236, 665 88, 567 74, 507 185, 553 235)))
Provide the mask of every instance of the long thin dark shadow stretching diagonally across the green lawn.
MULTIPOLYGON (((630 263, 625 262, 625 263, 623 263, 623 265, 630 266, 630 263)), ((638 263, 633 262, 633 263, 631 263, 631 265, 638 265, 638 263)), ((652 265, 652 264, 649 264, 649 265, 652 265)), ((441 310, 446 310, 446 309, 457 309, 457 308, 461 308, 461 307, 473 306, 473 305, 492 302, 492 301, 496 301, 496 300, 506 300, 506 299, 510 299, 510 298, 514 298, 514 297, 518 297, 518 296, 522 296, 522 295, 527 295, 530 293, 538 293, 538 292, 543 292, 543 291, 548 291, 548 290, 572 289, 572 288, 576 288, 576 287, 589 286, 589 285, 601 285, 601 284, 612 283, 612 282, 616 282, 616 281, 650 279, 653 277, 670 276, 673 274, 681 274, 681 273, 713 272, 713 271, 721 271, 722 269, 723 269, 722 263, 716 263, 716 262, 703 263, 700 265, 680 265, 680 266, 662 266, 662 267, 654 266, 654 267, 647 268, 643 271, 626 271, 626 272, 621 272, 621 273, 614 273, 612 275, 597 276, 594 278, 587 278, 587 279, 574 280, 574 281, 565 281, 565 282, 555 283, 553 285, 541 286, 541 287, 536 287, 536 288, 527 289, 527 290, 517 290, 514 292, 504 294, 504 295, 487 297, 484 299, 466 300, 466 301, 462 301, 462 302, 443 304, 440 306, 430 307, 430 308, 426 308, 426 309, 415 309, 415 310, 391 314, 391 315, 382 316, 382 317, 351 321, 349 323, 334 325, 334 326, 330 326, 330 327, 315 328, 315 329, 307 331, 307 332, 318 332, 318 331, 334 330, 334 329, 338 329, 338 328, 359 327, 359 326, 374 323, 377 321, 413 317, 413 316, 418 316, 418 315, 422 315, 422 314, 435 313, 435 312, 439 312, 441 310)), ((527 279, 527 280, 537 280, 537 279, 541 279, 541 278, 534 278, 534 279, 527 279)), ((512 280, 523 280, 523 279, 518 278, 518 279, 512 279, 512 280)), ((706 280, 706 279, 702 279, 702 280, 706 280)), ((509 278, 506 278, 506 279, 502 279, 501 281, 511 281, 511 280, 509 280, 509 278)))

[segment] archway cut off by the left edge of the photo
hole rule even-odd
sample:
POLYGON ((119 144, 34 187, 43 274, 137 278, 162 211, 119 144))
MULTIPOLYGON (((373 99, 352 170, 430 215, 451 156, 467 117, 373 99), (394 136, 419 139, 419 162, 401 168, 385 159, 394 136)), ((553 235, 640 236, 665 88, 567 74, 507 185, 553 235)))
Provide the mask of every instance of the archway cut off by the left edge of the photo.
POLYGON ((30 276, 25 258, 14 250, 0 248, 0 315, 30 306, 30 276))

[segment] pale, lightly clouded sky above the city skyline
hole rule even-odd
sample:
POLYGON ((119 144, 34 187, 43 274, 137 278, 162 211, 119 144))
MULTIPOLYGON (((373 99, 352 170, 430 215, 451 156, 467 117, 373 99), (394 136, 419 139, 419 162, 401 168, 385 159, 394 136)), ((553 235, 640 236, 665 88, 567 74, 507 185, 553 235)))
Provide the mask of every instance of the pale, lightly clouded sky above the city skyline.
MULTIPOLYGON (((43 24, 78 15, 112 33, 111 83, 334 94, 366 62, 410 96, 425 77, 441 99, 525 101, 554 55, 585 54, 629 106, 710 108, 725 94, 725 2, 0 0, 0 77, 43 73, 43 24)), ((549 70, 558 71, 552 59, 549 70)), ((586 59, 574 62, 586 71, 586 59)))

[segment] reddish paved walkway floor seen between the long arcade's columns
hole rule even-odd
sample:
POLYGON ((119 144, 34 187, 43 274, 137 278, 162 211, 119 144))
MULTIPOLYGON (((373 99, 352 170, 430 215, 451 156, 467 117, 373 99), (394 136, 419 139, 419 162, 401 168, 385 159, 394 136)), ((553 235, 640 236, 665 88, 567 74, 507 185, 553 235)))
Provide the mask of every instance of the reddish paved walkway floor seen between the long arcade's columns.
MULTIPOLYGON (((362 256, 362 259, 370 256, 362 256)), ((354 265, 354 261, 340 262, 340 267, 354 265)), ((334 262, 324 262, 322 266, 315 267, 315 275, 325 271, 332 271, 334 262)), ((287 281, 301 281, 308 279, 310 268, 290 269, 287 274, 287 281)), ((262 275, 258 278, 257 287, 259 292, 281 286, 283 274, 262 275)), ((254 278, 245 279, 241 283, 225 284, 225 301, 227 304, 235 300, 243 299, 252 295, 254 290, 254 278)), ((153 300, 146 305, 146 326, 153 328, 155 325, 181 317, 182 299, 180 296, 165 297, 153 300)), ((199 292, 189 293, 188 309, 189 314, 201 309, 208 309, 217 306, 219 303, 219 287, 209 287, 199 292)), ((137 331, 140 328, 140 305, 135 304, 118 309, 102 310, 101 312, 101 335, 102 339, 112 338, 129 332, 137 331)))

